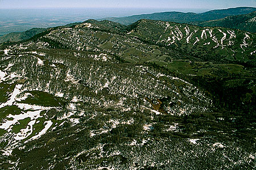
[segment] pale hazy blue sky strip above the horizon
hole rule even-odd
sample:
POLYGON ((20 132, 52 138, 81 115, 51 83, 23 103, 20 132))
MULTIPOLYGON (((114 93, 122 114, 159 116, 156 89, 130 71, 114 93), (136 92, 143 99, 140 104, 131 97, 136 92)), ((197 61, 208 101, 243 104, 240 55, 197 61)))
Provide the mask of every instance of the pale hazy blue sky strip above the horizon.
POLYGON ((0 0, 0 8, 229 8, 256 7, 256 0, 0 0))

